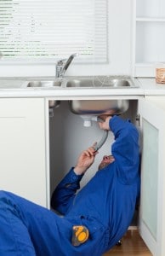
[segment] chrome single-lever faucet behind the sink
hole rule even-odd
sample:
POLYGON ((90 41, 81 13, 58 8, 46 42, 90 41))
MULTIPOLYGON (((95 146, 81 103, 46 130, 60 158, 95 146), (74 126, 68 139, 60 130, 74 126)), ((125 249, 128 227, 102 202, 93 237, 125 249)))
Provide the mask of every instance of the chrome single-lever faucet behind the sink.
POLYGON ((71 61, 74 59, 74 57, 77 57, 77 55, 78 54, 75 53, 75 54, 69 56, 68 59, 63 59, 63 60, 57 61, 57 64, 56 64, 56 78, 63 79, 67 68, 71 64, 71 61))

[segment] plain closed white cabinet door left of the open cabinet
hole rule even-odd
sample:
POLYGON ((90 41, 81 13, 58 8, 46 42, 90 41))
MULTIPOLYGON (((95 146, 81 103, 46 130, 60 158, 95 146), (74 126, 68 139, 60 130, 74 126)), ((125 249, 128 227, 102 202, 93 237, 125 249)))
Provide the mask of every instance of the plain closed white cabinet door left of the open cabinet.
POLYGON ((46 203, 44 100, 0 99, 0 189, 46 203))

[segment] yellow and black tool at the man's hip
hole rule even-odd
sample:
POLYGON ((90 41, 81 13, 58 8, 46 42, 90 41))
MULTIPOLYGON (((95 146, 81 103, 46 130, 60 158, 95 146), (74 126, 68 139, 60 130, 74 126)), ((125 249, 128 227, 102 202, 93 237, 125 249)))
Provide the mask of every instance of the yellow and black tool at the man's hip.
POLYGON ((73 226, 71 243, 77 247, 88 240, 88 229, 85 226, 73 226))

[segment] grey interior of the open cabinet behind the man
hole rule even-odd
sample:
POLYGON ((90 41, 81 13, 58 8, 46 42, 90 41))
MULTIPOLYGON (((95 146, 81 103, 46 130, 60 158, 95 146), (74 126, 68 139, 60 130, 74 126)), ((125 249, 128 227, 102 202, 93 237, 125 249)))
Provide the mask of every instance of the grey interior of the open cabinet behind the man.
MULTIPOLYGON (((97 123, 93 122, 91 127, 83 127, 83 119, 79 115, 71 113, 68 106, 67 101, 61 101, 60 107, 54 108, 54 116, 49 118, 50 195, 52 195, 55 185, 60 182, 71 166, 75 166, 77 157, 83 149, 88 148, 102 137, 103 131, 100 130, 97 123)), ((128 111, 122 114, 122 118, 130 119, 136 125, 137 106, 137 100, 130 100, 128 111)), ((113 142, 113 134, 109 132, 94 165, 83 177, 81 187, 94 176, 102 157, 105 154, 111 154, 111 143, 113 142)), ((136 221, 137 212, 134 213, 134 222, 136 221)))

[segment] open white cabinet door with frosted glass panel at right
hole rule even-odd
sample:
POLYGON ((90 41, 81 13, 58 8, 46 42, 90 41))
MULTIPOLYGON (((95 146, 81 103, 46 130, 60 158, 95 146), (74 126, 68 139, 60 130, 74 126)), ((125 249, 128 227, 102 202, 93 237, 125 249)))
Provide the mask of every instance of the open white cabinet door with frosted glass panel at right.
POLYGON ((165 97, 139 101, 142 128, 139 232, 151 253, 165 255, 165 97))

